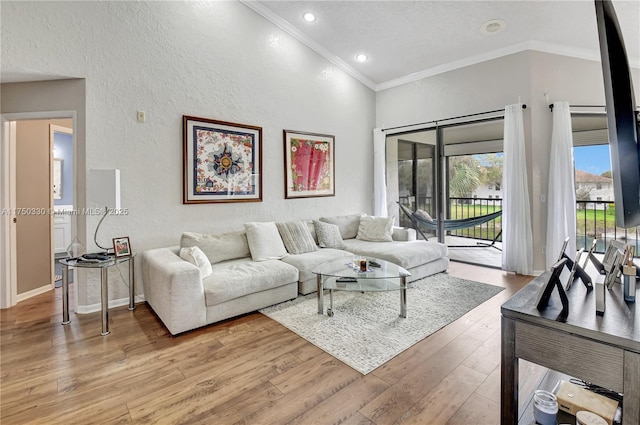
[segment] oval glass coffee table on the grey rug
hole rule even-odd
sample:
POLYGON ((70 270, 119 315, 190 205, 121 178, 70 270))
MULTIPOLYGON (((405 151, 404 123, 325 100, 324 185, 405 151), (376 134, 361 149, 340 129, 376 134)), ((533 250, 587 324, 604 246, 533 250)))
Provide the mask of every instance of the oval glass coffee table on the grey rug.
POLYGON ((327 315, 333 316, 333 291, 400 292, 400 317, 407 317, 407 277, 411 273, 400 266, 377 258, 367 258, 367 271, 353 264, 353 256, 340 257, 312 270, 318 280, 318 314, 324 314, 324 290, 329 290, 327 315))

